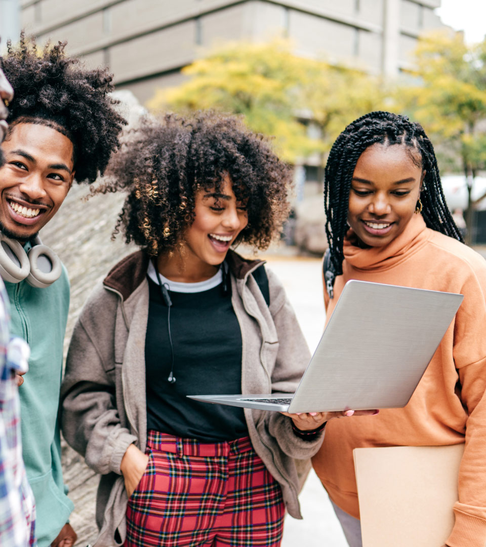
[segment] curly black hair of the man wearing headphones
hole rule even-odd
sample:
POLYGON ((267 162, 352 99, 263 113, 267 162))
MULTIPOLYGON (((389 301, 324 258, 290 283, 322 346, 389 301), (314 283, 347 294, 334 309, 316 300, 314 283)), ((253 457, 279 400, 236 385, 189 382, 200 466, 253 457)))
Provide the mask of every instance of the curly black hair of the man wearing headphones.
POLYGON ((65 54, 65 47, 66 42, 48 43, 39 51, 24 32, 18 48, 7 42, 0 67, 15 91, 7 121, 11 129, 36 123, 66 135, 74 147, 76 181, 94 182, 120 147, 126 121, 113 108, 119 101, 108 95, 112 75, 106 69, 84 69, 79 59, 65 54))

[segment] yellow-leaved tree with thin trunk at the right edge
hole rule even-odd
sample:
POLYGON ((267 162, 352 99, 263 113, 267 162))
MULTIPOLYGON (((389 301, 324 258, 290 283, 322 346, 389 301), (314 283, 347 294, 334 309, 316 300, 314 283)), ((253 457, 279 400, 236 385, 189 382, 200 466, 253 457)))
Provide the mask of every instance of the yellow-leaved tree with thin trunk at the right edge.
POLYGON ((419 40, 414 64, 419 84, 400 89, 398 101, 464 172, 470 229, 473 207, 482 199, 472 201, 473 182, 486 165, 486 40, 467 45, 459 33, 428 34, 419 40))

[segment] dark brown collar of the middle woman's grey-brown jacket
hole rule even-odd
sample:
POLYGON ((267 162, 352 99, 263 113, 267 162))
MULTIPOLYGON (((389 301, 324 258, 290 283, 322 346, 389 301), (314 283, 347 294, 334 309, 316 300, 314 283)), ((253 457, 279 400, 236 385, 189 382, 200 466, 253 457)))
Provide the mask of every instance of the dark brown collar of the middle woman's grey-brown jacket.
MULTIPOLYGON (((143 250, 129 254, 108 272, 103 280, 103 285, 116 290, 123 300, 127 300, 133 291, 139 287, 140 283, 144 281, 149 261, 150 256, 143 250)), ((226 255, 226 263, 237 279, 243 279, 257 265, 263 264, 263 261, 243 258, 230 249, 226 255)))

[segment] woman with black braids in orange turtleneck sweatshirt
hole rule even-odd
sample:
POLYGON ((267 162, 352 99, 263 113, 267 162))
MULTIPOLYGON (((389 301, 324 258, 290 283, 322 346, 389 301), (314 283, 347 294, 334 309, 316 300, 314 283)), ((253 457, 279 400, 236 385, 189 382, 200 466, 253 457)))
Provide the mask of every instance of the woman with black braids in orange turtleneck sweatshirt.
POLYGON ((372 112, 348 125, 327 160, 325 209, 327 317, 350 279, 464 295, 405 408, 382 410, 372 420, 361 417, 346 424, 333 420, 326 426, 313 465, 348 543, 361 545, 354 448, 466 441, 459 502, 453 508, 455 525, 446 544, 483 547, 486 263, 462 243, 444 199, 434 148, 423 128, 389 112, 372 112))

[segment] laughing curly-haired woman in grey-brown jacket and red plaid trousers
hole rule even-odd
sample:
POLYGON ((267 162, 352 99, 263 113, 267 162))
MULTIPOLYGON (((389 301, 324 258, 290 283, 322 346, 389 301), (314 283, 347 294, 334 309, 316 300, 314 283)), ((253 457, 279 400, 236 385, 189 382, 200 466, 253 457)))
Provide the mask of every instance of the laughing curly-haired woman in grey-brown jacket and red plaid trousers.
POLYGON ((277 546, 341 413, 186 395, 292 392, 308 363, 282 284, 231 248, 279 234, 290 168, 238 119, 202 113, 145 126, 112 174, 101 191, 128 191, 116 230, 141 250, 87 301, 62 388, 66 440, 103 474, 96 545, 277 546))

